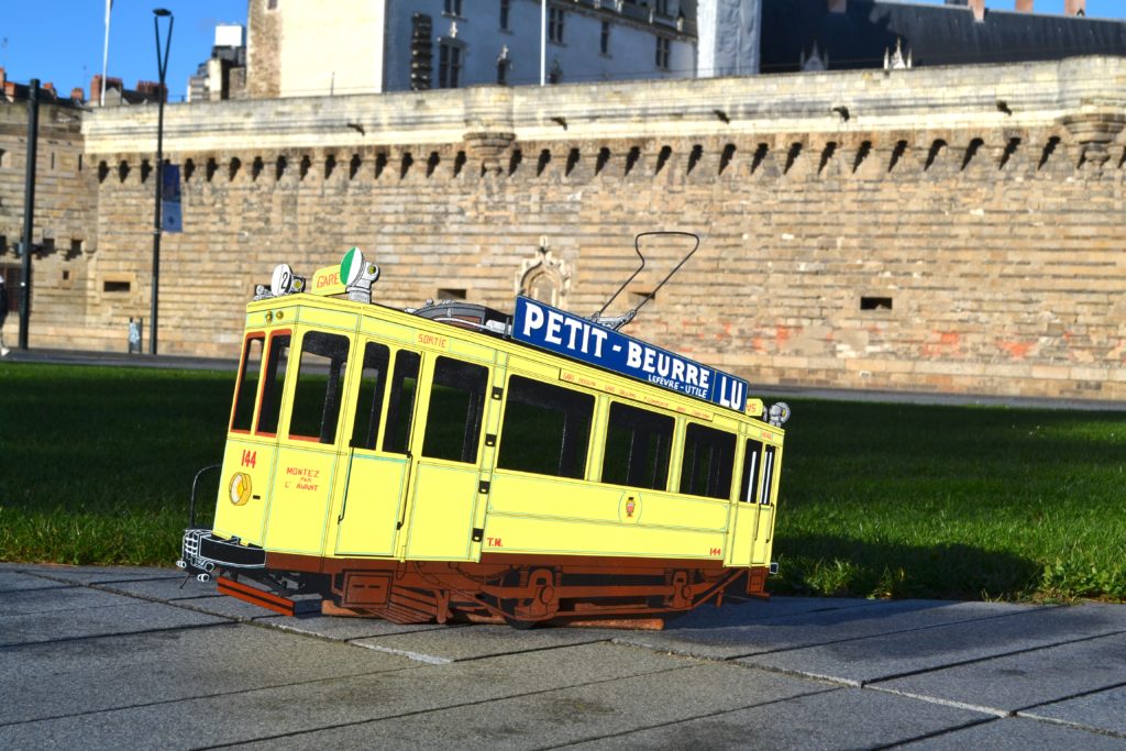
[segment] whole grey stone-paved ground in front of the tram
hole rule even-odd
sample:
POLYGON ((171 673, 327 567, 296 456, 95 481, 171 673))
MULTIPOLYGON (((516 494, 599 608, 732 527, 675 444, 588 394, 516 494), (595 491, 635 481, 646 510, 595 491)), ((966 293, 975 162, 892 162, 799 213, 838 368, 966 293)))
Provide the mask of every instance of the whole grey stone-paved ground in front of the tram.
POLYGON ((0 748, 1126 749, 1126 606, 776 598, 663 632, 287 618, 0 564, 0 748))

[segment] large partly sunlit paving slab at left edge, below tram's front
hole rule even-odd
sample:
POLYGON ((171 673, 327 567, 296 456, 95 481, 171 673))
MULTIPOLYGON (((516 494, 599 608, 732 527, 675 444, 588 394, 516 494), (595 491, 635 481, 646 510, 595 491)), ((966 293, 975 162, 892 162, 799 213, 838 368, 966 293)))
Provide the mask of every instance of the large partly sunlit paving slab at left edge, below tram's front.
POLYGON ((0 724, 413 664, 405 658, 243 624, 14 646, 0 650, 0 724))

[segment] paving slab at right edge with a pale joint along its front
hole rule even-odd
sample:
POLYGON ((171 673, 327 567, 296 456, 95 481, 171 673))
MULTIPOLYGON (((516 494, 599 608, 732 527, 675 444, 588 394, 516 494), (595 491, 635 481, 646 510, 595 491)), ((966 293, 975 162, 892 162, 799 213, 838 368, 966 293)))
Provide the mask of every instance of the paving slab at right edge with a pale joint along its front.
POLYGON ((1003 716, 1124 683, 1126 634, 971 662, 872 686, 1003 716))

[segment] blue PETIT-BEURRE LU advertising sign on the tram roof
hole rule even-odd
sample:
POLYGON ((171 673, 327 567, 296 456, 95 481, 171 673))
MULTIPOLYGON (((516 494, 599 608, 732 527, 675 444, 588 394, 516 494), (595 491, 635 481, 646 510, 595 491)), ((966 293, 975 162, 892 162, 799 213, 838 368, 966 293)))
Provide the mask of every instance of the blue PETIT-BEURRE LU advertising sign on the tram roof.
POLYGON ((512 339, 720 406, 747 408, 742 378, 528 297, 516 298, 512 339))

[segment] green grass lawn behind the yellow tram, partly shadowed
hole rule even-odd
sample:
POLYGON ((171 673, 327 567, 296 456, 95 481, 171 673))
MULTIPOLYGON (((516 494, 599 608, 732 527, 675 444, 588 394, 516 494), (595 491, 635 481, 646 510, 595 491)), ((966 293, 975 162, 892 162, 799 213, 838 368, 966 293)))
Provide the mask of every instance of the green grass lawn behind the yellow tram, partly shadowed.
MULTIPOLYGON (((0 560, 169 565, 233 378, 0 365, 0 560)), ((793 406, 774 591, 1126 599, 1126 412, 793 406)))

